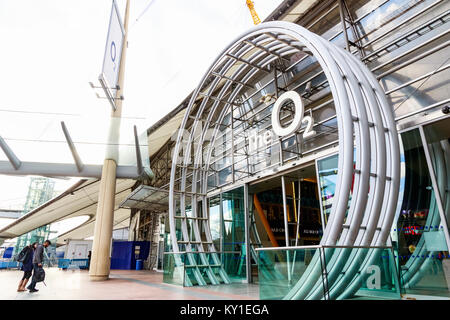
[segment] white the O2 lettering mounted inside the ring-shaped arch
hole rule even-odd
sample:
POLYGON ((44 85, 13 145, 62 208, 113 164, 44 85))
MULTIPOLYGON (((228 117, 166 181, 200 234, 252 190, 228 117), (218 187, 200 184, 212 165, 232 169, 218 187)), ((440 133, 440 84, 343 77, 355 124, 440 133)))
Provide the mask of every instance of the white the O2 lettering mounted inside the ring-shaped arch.
POLYGON ((295 91, 287 91, 283 93, 272 109, 272 130, 264 130, 260 133, 254 130, 249 136, 249 152, 254 153, 261 147, 268 147, 272 144, 273 137, 285 137, 300 130, 303 123, 306 124, 306 129, 302 137, 308 138, 316 134, 313 130, 314 120, 311 116, 303 116, 305 108, 303 106, 300 95, 295 91), (283 127, 280 123, 280 111, 286 101, 292 101, 294 104, 294 119, 287 126, 283 127))

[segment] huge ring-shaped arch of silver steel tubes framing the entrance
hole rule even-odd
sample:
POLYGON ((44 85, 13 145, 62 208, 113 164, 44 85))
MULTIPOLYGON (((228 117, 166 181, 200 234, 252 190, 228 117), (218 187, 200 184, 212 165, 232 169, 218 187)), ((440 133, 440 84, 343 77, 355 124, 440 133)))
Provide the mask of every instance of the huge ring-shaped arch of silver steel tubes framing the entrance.
MULTIPOLYGON (((237 95, 255 75, 264 72, 274 60, 297 52, 312 55, 322 67, 333 95, 338 123, 338 177, 321 244, 380 246, 386 243, 397 205, 400 152, 393 112, 383 89, 358 59, 320 36, 288 22, 263 23, 233 41, 211 65, 192 95, 174 148, 169 195, 173 251, 179 252, 179 245, 185 245, 186 252, 200 252, 200 263, 192 255, 187 255, 187 263, 192 265, 199 284, 206 283, 202 274, 206 274, 211 283, 229 281, 223 269, 218 272, 214 269, 219 258, 215 254, 207 216, 207 172, 215 141, 221 126, 224 126, 224 117, 237 95), (198 101, 200 97, 203 98, 201 102, 198 101), (208 106, 208 102, 212 103, 208 106), (186 143, 183 134, 191 119, 194 120, 186 143), (179 155, 181 148, 185 151, 182 157, 179 155), (202 158, 204 148, 205 159, 202 158), (191 153, 192 149, 194 153, 191 153), (201 163, 202 160, 204 162, 201 163), (180 181, 178 190, 177 178, 180 181), (192 179, 190 185, 189 178, 192 179), (353 179, 353 194, 347 212, 353 179), (179 204, 176 194, 180 197, 179 204), (191 208, 189 216, 186 207, 191 208), (177 220, 181 221, 182 239, 177 238, 177 220), (189 238, 188 221, 192 221, 195 239, 189 238), (206 241, 201 238, 200 224, 203 224, 206 241)), ((358 271, 377 259, 379 253, 377 250, 326 250, 325 255, 330 262, 331 296, 345 298, 358 290, 358 271)), ((319 257, 315 255, 300 281, 285 298, 322 298, 320 273, 319 257)))

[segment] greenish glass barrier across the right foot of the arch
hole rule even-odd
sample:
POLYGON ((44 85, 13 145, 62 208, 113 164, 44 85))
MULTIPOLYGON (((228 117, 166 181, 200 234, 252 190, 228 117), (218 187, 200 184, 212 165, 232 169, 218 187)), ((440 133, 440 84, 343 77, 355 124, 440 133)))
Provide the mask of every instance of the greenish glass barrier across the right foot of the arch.
POLYGON ((346 299, 346 290, 352 286, 358 288, 353 298, 400 299, 392 248, 303 247, 260 249, 258 253, 261 300, 346 299), (359 269, 350 279, 346 272, 339 272, 342 268, 332 258, 344 255, 348 260, 341 267, 347 274, 352 274, 350 265, 359 269))

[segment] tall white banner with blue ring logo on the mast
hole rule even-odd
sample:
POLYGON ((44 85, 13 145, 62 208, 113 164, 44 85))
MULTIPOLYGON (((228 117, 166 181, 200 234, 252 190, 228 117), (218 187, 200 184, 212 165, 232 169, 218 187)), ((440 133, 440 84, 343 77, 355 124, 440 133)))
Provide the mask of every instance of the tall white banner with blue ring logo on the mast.
POLYGON ((105 55, 99 81, 105 90, 106 97, 115 110, 115 97, 119 78, 120 60, 125 30, 120 18, 116 1, 112 2, 109 19, 108 36, 106 38, 105 55))

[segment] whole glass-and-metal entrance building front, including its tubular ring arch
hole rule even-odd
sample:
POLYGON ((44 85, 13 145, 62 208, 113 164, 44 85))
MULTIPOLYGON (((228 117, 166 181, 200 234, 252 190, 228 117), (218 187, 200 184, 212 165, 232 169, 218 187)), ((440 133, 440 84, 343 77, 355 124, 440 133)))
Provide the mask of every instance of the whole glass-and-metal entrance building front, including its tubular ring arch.
POLYGON ((449 9, 284 1, 224 44, 129 197, 165 281, 450 296, 449 9))

